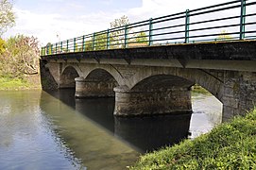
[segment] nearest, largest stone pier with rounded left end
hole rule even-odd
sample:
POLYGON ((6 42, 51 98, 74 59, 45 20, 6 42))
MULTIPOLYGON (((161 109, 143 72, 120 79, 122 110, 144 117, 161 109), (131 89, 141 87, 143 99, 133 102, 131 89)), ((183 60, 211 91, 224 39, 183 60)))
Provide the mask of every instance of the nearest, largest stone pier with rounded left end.
POLYGON ((188 88, 133 91, 127 86, 114 88, 116 116, 156 115, 191 112, 188 88))

